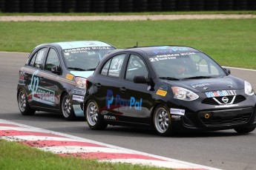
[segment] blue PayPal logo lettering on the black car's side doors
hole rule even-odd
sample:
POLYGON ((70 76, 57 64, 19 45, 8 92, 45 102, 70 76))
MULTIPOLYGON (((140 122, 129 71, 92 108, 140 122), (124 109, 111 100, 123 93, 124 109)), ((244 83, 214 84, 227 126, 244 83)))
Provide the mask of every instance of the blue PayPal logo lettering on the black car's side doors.
POLYGON ((129 99, 121 98, 120 95, 116 95, 115 102, 114 102, 114 94, 111 89, 108 89, 107 96, 106 96, 106 106, 108 109, 111 108, 111 105, 114 106, 127 106, 131 108, 134 108, 136 110, 142 109, 142 98, 139 100, 136 100, 134 97, 130 97, 129 99))

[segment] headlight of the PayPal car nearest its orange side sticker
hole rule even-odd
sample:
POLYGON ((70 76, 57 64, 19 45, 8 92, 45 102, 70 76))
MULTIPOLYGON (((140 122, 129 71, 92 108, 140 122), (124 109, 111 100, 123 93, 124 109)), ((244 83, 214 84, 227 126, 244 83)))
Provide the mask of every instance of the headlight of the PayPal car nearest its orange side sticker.
POLYGON ((194 92, 191 92, 190 90, 184 89, 179 86, 172 86, 171 89, 172 89, 172 92, 174 92, 174 98, 177 98, 179 100, 194 101, 197 98, 199 98, 199 96, 194 92))

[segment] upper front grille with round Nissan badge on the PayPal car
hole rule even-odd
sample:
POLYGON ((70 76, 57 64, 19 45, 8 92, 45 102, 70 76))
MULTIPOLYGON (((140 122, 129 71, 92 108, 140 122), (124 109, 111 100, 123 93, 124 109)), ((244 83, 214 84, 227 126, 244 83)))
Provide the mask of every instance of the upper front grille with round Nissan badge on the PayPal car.
POLYGON ((220 104, 236 104, 240 103, 242 101, 245 101, 246 98, 243 95, 229 95, 225 96, 229 99, 228 103, 224 103, 222 101, 223 97, 215 97, 215 98, 205 98, 203 99, 202 103, 204 104, 210 104, 210 105, 220 105, 220 104), (234 100, 234 101, 233 101, 234 100), (218 102, 217 102, 218 101, 218 102), (233 102, 232 102, 233 101, 233 102), (231 103, 232 102, 232 103, 231 103))

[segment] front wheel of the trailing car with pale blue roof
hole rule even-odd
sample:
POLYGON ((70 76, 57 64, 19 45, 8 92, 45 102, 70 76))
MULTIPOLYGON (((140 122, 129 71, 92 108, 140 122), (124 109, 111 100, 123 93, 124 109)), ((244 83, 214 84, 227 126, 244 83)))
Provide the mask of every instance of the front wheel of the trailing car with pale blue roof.
POLYGON ((70 99, 70 96, 68 95, 68 93, 65 93, 62 97, 61 111, 62 111, 62 115, 65 118, 65 120, 73 120, 74 118, 76 118, 76 115, 73 112, 71 99, 70 99))

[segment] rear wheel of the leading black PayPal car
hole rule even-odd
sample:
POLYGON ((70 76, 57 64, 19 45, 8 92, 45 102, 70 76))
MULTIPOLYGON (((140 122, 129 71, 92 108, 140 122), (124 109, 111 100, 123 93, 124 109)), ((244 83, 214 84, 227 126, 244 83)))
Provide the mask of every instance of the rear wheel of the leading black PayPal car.
POLYGON ((108 126, 108 124, 105 123, 102 116, 99 114, 99 106, 93 100, 88 101, 85 116, 90 129, 102 130, 108 126))

